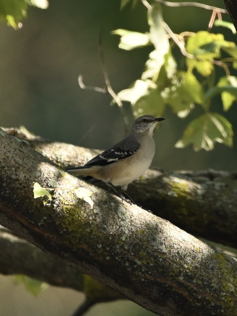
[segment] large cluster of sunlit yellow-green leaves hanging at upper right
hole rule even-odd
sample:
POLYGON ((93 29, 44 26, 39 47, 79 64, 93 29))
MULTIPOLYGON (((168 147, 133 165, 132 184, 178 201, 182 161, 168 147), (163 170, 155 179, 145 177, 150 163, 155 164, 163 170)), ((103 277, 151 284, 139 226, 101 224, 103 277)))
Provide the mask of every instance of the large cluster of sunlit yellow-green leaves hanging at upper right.
MULTIPOLYGON (((129 0, 121 1, 123 8, 129 0)), ((136 1, 133 1, 133 5, 136 1)), ((176 143, 183 148, 193 144, 194 150, 214 148, 215 142, 233 144, 230 122, 221 114, 211 112, 213 97, 221 94, 223 111, 228 111, 237 97, 237 78, 230 75, 229 67, 237 69, 237 46, 227 41, 221 33, 208 31, 174 34, 163 21, 161 6, 152 4, 148 9, 149 33, 124 29, 112 31, 120 35, 119 48, 131 50, 153 46, 141 78, 118 93, 121 101, 131 103, 135 117, 151 114, 161 117, 167 106, 180 118, 185 118, 195 105, 203 114, 192 120, 176 143), (179 46, 185 60, 181 68, 173 57, 174 44, 179 46), (222 59, 222 54, 228 58, 222 59), (224 76, 215 78, 216 67, 222 67, 224 76)), ((215 25, 228 27, 231 23, 217 20, 215 25)))

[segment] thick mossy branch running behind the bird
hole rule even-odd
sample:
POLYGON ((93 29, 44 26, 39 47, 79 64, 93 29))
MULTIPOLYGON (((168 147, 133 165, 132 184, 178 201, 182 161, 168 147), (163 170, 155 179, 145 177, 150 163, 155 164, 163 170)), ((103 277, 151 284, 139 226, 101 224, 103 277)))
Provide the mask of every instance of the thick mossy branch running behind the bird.
MULTIPOLYGON (((25 130, 5 129, 61 166, 86 163, 98 150, 52 143, 25 130)), ((237 248, 236 175, 227 172, 169 173, 149 170, 129 190, 144 208, 185 231, 237 248), (221 182, 222 181, 222 182, 221 182)), ((107 188, 106 185, 102 186, 107 188)))

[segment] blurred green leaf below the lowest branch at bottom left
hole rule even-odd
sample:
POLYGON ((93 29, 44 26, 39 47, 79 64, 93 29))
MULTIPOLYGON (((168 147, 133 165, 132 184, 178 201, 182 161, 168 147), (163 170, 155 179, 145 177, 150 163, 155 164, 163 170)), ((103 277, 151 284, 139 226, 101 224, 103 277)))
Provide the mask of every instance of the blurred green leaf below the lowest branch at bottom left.
POLYGON ((42 291, 48 288, 48 284, 45 282, 21 274, 15 275, 15 283, 18 284, 21 282, 24 283, 26 290, 34 296, 38 296, 42 291))

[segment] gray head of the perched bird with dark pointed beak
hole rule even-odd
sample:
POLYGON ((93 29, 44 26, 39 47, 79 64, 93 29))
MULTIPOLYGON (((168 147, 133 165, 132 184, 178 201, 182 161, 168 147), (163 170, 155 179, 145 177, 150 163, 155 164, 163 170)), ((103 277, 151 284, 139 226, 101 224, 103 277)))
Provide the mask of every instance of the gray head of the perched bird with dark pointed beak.
POLYGON ((162 118, 155 118, 150 115, 140 116, 133 124, 132 131, 138 133, 149 133, 152 135, 153 130, 156 124, 160 121, 163 121, 162 118))

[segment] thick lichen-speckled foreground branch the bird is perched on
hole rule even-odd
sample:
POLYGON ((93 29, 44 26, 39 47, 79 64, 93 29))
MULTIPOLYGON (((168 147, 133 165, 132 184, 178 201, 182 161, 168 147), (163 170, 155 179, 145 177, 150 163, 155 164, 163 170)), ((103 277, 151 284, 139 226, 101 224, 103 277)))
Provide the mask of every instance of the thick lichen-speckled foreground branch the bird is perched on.
POLYGON ((159 315, 236 315, 237 261, 76 179, 0 130, 0 221, 42 250, 159 315), (33 182, 53 198, 34 199, 33 182), (76 197, 93 191, 94 207, 76 197))

